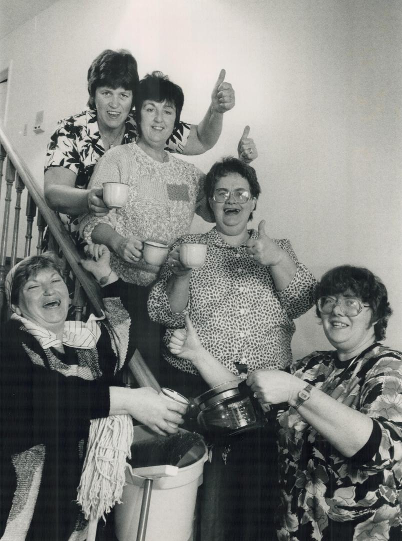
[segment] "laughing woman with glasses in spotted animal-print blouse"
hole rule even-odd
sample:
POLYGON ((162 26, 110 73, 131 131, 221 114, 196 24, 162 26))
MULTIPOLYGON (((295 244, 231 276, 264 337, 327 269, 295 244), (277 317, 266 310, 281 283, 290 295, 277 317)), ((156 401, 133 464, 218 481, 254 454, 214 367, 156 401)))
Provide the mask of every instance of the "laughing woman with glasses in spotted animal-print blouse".
MULTIPOLYGON (((217 162, 205 180, 216 227, 173 245, 151 291, 151 319, 169 328, 165 344, 189 314, 204 351, 215 361, 196 364, 166 349, 163 384, 187 397, 258 368, 289 366, 293 319, 313 304, 316 280, 298 263, 289 241, 270 239, 264 222, 258 232, 247 229, 259 193, 252 167, 234 158, 217 162), (207 245, 203 267, 182 265, 182 242, 207 245)), ((203 540, 272 538, 277 469, 272 440, 268 429, 215 446, 204 470, 203 540)))

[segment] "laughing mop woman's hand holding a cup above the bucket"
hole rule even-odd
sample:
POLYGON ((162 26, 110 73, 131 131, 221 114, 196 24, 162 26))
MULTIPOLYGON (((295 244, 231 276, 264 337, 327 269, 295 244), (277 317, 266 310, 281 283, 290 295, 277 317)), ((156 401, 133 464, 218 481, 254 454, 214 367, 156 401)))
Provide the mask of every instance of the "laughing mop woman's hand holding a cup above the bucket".
POLYGON ((184 423, 182 415, 187 406, 158 394, 151 387, 130 389, 128 413, 158 434, 176 434, 178 425, 184 423))

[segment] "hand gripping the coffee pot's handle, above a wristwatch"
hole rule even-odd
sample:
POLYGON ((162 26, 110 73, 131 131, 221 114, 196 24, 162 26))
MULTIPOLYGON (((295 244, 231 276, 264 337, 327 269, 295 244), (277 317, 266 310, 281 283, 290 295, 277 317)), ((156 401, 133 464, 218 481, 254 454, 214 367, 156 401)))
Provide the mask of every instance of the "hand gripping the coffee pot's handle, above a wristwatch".
POLYGON ((262 405, 288 402, 303 382, 283 370, 256 370, 247 378, 247 385, 262 405))

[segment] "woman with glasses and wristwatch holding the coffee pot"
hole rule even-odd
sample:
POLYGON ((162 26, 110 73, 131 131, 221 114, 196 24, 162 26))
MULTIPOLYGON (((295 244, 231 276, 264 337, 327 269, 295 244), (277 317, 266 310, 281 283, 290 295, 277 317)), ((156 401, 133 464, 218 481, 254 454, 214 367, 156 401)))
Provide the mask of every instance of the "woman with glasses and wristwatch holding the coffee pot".
POLYGON ((402 539, 402 353, 379 343, 386 288, 365 268, 337 267, 316 306, 336 351, 247 379, 261 403, 289 404, 277 419, 278 539, 402 539))

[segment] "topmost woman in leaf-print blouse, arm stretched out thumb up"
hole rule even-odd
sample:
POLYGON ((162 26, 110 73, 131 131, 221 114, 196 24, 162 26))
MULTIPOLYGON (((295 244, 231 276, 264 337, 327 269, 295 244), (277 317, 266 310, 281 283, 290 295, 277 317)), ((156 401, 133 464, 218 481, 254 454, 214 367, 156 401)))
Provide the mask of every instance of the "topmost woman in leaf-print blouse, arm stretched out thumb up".
MULTIPOLYGON (((173 153, 202 154, 212 148, 222 131, 223 114, 234 107, 234 91, 221 71, 212 90, 211 105, 197 125, 176 125, 165 142, 173 153)), ((60 213, 79 245, 77 217, 88 211, 98 216, 109 212, 102 187, 88 189, 99 158, 110 148, 138 138, 133 104, 138 88, 137 62, 127 50, 106 49, 88 70, 88 107, 59 121, 46 154, 44 195, 49 207, 60 213), (75 188, 79 188, 76 190, 75 188)), ((245 147, 245 154, 252 150, 245 147)), ((247 159, 254 159, 250 153, 247 159)))

